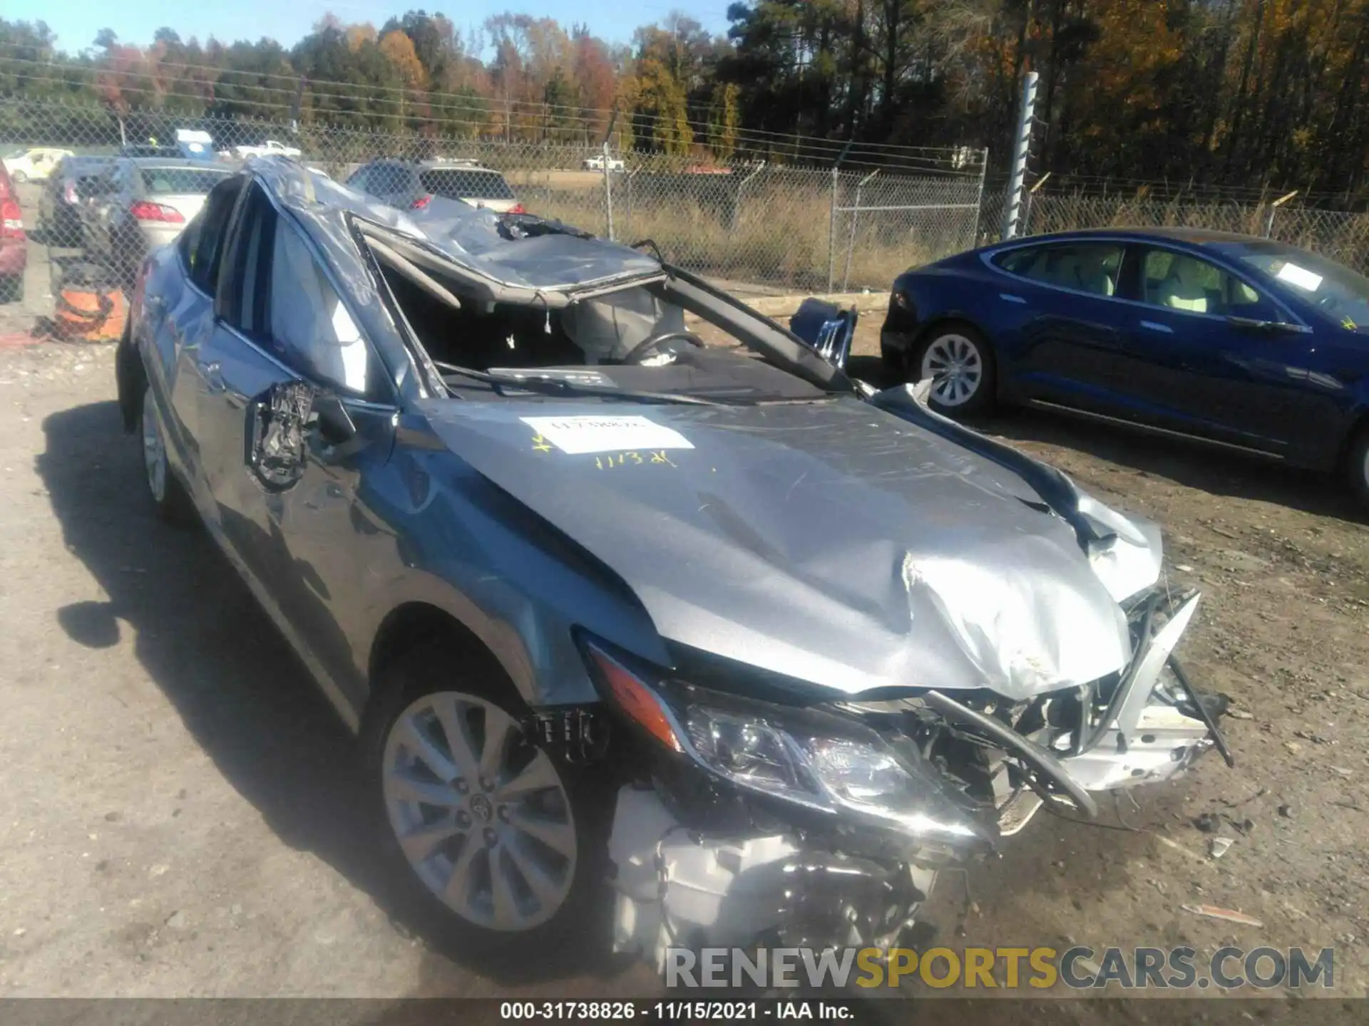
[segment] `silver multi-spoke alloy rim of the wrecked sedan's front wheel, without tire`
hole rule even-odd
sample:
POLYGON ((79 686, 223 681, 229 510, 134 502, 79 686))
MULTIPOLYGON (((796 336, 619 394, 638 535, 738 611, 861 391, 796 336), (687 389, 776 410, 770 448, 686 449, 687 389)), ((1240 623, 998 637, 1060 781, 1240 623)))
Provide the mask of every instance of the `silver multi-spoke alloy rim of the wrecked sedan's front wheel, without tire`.
POLYGON ((416 699, 385 741, 390 828, 423 885, 463 919, 530 930, 575 880, 575 817, 556 766, 474 695, 416 699))

